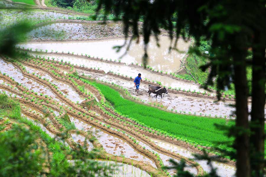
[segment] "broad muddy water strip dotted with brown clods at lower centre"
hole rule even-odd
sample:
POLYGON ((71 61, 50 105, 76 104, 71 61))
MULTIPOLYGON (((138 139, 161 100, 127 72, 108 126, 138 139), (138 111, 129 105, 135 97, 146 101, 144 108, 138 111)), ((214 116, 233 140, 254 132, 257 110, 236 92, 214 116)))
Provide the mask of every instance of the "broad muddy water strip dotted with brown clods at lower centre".
POLYGON ((118 137, 110 135, 107 132, 103 132, 73 117, 70 117, 70 120, 71 122, 74 122, 78 130, 92 132, 92 135, 94 135, 98 139, 107 153, 142 161, 156 168, 156 165, 152 160, 138 153, 128 143, 124 142, 118 137))

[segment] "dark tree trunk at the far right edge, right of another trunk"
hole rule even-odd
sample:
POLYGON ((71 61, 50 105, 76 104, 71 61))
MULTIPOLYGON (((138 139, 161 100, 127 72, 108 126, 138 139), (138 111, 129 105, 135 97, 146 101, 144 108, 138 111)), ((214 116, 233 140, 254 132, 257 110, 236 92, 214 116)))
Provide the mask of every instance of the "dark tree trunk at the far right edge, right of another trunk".
POLYGON ((259 33, 254 37, 257 46, 252 48, 252 111, 251 111, 251 172, 252 176, 263 176, 264 139, 265 139, 265 46, 258 45, 261 40, 259 33))

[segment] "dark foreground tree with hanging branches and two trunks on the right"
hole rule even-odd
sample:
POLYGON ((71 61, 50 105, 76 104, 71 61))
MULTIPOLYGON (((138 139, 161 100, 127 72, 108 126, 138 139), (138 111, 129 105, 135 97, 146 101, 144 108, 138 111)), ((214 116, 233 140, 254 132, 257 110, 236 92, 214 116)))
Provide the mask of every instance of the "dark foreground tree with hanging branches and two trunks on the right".
MULTIPOLYGON (((231 130, 235 137, 236 175, 238 177, 263 176, 265 139, 265 48, 266 48, 266 9, 265 0, 255 1, 182 1, 182 0, 99 0, 98 11, 114 13, 122 19, 128 39, 129 27, 133 28, 132 39, 144 36, 146 66, 147 43, 150 36, 160 34, 160 29, 168 30, 174 40, 172 49, 181 35, 184 39, 195 38, 194 52, 202 55, 198 46, 200 40, 211 40, 208 58, 210 62, 202 66, 210 68, 206 81, 214 85, 216 78, 217 95, 225 87, 230 89, 231 79, 236 92, 236 127, 231 130), (139 23, 142 21, 143 23, 139 23), (142 31, 139 31, 139 26, 142 31), (189 28, 189 35, 185 29, 189 28), (247 60, 248 49, 252 48, 252 59, 247 60), (247 66, 252 66, 252 112, 249 122, 247 66)), ((125 43, 126 45, 126 43, 125 43)), ((125 46, 124 45, 124 46, 125 46)), ((120 47, 124 47, 120 46, 120 47)), ((118 47, 119 49, 119 47, 118 47)))

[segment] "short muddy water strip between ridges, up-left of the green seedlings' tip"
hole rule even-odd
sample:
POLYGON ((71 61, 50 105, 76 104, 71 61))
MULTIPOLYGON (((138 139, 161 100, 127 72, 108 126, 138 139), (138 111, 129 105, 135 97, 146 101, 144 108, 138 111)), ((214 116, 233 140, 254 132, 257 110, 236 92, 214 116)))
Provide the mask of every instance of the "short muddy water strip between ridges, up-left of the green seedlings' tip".
MULTIPOLYGON (((25 66, 25 65, 24 65, 25 66)), ((79 101, 80 103, 84 101, 85 99, 82 98, 71 86, 69 86, 66 83, 62 83, 56 79, 53 79, 51 76, 46 74, 43 71, 39 71, 37 69, 33 69, 31 67, 25 66, 26 70, 29 71, 30 73, 35 73, 36 75, 38 74, 42 78, 49 79, 49 81, 56 86, 58 86, 58 89, 63 93, 63 95, 66 95, 68 99, 71 101, 77 102, 79 101)))

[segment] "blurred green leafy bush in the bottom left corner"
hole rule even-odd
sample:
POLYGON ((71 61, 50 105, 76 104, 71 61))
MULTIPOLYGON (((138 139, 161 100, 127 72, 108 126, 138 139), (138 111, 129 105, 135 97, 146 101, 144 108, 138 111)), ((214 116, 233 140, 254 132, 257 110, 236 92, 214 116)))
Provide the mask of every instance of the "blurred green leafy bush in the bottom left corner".
POLYGON ((0 134, 1 176, 39 176, 45 159, 36 138, 19 125, 0 134))

